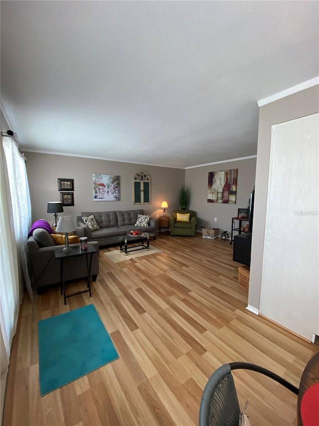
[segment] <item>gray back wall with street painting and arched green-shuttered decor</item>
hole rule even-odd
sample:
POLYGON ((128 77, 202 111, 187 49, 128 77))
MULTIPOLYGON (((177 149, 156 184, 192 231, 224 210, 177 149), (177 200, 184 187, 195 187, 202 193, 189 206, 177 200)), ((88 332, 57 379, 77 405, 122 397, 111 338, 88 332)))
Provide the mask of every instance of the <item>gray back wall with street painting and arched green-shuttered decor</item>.
POLYGON ((25 151, 29 181, 32 222, 45 219, 50 224, 53 215, 46 212, 48 201, 60 201, 57 178, 74 179, 74 207, 64 207, 64 215, 76 216, 82 211, 109 211, 143 208, 147 214, 162 214, 160 204, 168 202, 167 213, 179 208, 178 190, 185 181, 185 170, 143 164, 121 163, 91 158, 42 154, 25 151), (133 204, 133 176, 146 170, 151 176, 151 204, 133 204), (92 174, 120 176, 120 201, 93 201, 92 174))

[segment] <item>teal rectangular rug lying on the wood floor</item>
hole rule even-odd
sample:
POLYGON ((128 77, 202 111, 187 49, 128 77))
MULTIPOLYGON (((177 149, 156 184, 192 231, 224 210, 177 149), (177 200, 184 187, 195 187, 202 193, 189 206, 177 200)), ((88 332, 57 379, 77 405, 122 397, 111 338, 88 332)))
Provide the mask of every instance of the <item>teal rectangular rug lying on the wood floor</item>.
POLYGON ((94 305, 38 322, 40 394, 119 358, 94 305))

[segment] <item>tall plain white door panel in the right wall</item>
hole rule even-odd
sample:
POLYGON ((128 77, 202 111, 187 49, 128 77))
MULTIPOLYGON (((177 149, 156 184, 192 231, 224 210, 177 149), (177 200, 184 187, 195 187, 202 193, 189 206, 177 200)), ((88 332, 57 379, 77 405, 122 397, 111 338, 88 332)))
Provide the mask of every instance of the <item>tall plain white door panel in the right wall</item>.
POLYGON ((319 114, 272 126, 260 313, 319 335, 319 114))

